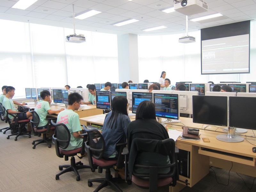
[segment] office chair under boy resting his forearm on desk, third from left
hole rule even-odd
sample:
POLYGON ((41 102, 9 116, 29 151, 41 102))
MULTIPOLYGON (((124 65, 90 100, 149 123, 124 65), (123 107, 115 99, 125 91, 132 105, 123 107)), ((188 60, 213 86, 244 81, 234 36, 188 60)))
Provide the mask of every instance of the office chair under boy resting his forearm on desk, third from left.
POLYGON ((30 120, 30 124, 31 124, 31 127, 32 127, 32 131, 34 134, 39 134, 41 135, 43 133, 43 139, 38 139, 38 140, 33 140, 32 142, 32 145, 34 145, 32 148, 35 149, 36 146, 40 143, 47 143, 48 144, 48 148, 51 148, 52 147, 52 140, 49 140, 47 137, 46 137, 46 133, 49 133, 51 130, 54 130, 55 127, 52 126, 51 124, 51 120, 53 119, 56 119, 56 118, 51 118, 51 119, 46 119, 48 120, 48 126, 47 128, 44 128, 44 129, 37 129, 38 125, 39 125, 39 122, 40 122, 40 117, 38 116, 38 114, 36 113, 36 111, 34 110, 31 110, 29 109, 28 110, 30 113, 32 113, 32 116, 33 116, 33 119, 30 120), (37 142, 35 144, 35 142, 37 142))

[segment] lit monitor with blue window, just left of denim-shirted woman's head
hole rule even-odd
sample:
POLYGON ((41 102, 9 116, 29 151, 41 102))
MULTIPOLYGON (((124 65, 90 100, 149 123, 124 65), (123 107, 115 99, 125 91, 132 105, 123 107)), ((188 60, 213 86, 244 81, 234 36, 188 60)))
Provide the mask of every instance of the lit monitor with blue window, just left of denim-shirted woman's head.
POLYGON ((96 108, 110 110, 110 92, 96 91, 96 108))

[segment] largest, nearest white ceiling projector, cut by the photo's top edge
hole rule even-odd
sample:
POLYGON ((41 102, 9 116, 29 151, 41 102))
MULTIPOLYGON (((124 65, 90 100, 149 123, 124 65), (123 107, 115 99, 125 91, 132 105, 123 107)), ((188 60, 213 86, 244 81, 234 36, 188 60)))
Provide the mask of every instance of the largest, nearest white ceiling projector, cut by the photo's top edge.
POLYGON ((194 15, 208 11, 208 5, 202 0, 187 0, 188 3, 184 7, 181 3, 174 4, 174 10, 184 15, 194 15))

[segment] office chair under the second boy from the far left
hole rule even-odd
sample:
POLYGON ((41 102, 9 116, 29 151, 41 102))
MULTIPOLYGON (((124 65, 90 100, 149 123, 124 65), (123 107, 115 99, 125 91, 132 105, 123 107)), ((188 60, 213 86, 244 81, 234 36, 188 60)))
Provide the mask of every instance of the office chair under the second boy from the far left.
POLYGON ((17 116, 15 116, 15 114, 18 114, 18 113, 13 113, 13 114, 10 114, 8 113, 7 110, 6 111, 6 120, 7 122, 9 123, 10 125, 10 128, 11 128, 11 135, 8 135, 7 136, 7 139, 10 139, 11 136, 13 135, 16 135, 15 137, 15 141, 17 141, 17 138, 20 136, 20 135, 28 135, 28 138, 31 138, 31 131, 27 131, 26 129, 26 124, 29 123, 29 119, 24 119, 24 120, 19 120, 17 116), (13 119, 11 120, 9 118, 9 116, 12 116, 13 119))

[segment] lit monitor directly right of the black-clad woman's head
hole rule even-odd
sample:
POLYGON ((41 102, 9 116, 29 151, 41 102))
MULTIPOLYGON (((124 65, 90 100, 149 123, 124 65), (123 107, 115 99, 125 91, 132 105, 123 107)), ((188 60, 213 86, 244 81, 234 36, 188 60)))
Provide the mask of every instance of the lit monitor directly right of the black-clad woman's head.
POLYGON ((154 103, 156 105, 156 116, 179 120, 179 95, 170 93, 154 93, 154 103))

